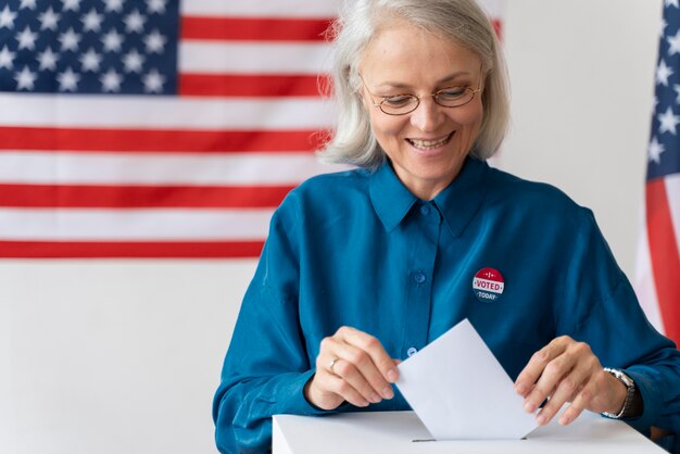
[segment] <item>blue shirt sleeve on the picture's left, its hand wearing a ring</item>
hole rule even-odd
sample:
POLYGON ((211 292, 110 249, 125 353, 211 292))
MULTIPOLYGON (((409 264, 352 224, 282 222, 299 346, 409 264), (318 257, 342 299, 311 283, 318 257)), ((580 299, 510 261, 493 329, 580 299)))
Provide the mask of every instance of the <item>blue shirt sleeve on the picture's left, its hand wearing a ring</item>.
POLYGON ((273 216, 214 398, 215 439, 224 453, 269 451, 275 414, 328 413, 303 395, 314 369, 299 323, 300 227, 288 202, 273 216))

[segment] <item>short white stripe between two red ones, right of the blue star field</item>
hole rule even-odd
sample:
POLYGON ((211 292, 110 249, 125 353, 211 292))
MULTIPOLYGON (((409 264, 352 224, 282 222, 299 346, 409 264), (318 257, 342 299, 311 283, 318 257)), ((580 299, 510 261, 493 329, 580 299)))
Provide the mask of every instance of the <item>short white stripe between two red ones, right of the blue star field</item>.
POLYGON ((178 48, 180 73, 318 74, 332 61, 327 43, 185 40, 178 48))

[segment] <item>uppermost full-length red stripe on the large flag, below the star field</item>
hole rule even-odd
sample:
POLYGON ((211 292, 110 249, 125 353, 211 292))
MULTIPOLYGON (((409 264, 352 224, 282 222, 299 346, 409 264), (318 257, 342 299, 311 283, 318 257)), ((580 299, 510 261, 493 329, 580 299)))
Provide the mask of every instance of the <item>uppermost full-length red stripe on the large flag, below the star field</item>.
POLYGON ((324 134, 314 130, 146 130, 0 127, 2 150, 106 152, 313 151, 324 134))

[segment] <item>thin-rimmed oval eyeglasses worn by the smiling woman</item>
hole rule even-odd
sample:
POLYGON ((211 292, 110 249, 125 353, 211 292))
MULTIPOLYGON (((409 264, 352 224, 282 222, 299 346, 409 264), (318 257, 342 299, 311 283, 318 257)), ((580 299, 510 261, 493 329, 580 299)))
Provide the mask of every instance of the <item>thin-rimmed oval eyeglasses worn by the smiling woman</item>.
MULTIPOLYGON (((420 105, 421 97, 413 93, 393 94, 389 97, 374 94, 368 90, 368 87, 366 87, 366 83, 361 74, 358 77, 362 79, 368 94, 370 94, 373 105, 388 115, 405 115, 415 111, 418 109, 418 105, 420 105), (382 101, 376 102, 374 98, 382 98, 382 101)), ((442 108, 459 108, 470 102, 479 91, 481 91, 481 72, 476 90, 469 87, 446 87, 428 96, 431 96, 435 102, 442 108)))

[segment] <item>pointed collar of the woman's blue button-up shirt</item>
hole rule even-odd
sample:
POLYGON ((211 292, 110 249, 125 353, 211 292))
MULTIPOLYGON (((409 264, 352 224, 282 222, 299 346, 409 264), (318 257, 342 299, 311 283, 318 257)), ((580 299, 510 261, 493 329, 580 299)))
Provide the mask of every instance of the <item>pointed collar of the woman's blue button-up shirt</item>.
MULTIPOLYGON (((486 193, 489 166, 467 157, 461 173, 433 200, 444 224, 455 237, 463 234, 479 211, 486 193)), ((369 193, 376 214, 387 231, 393 230, 418 201, 386 160, 370 178, 369 193)))

